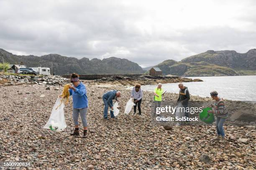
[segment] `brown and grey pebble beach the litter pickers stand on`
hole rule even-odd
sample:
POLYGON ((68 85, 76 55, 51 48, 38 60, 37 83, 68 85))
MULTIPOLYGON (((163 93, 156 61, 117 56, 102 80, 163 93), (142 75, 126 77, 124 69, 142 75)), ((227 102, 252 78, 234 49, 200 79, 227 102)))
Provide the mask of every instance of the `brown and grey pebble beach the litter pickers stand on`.
MULTIPOLYGON (((151 124, 152 92, 143 92, 142 116, 124 115, 130 90, 125 86, 87 86, 88 138, 69 136, 74 130, 72 97, 65 106, 67 128, 62 132, 43 129, 63 87, 22 84, 1 86, 0 160, 26 161, 23 169, 255 169, 255 126, 224 125, 225 144, 212 140, 215 125, 174 126, 151 124), (118 119, 103 120, 102 94, 120 90, 118 119)), ((178 95, 166 93, 166 100, 178 95)), ((210 100, 192 96, 192 99, 210 100)), ((80 120, 79 120, 80 121, 80 120)), ((80 121, 81 123, 81 121, 80 121)), ((82 133, 82 124, 79 126, 82 133)), ((22 169, 22 168, 20 168, 22 169)))

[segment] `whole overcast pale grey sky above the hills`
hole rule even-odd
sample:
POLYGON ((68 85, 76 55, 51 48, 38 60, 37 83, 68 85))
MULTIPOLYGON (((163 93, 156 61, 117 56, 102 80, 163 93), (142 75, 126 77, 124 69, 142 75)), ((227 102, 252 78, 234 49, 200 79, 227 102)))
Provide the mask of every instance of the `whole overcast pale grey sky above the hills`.
POLYGON ((142 67, 256 48, 256 0, 0 0, 0 48, 142 67))

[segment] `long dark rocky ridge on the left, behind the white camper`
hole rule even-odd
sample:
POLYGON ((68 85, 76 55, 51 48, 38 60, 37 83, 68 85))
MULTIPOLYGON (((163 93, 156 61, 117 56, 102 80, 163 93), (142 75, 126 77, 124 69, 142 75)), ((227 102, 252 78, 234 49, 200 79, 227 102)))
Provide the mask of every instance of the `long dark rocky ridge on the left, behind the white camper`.
POLYGON ((72 72, 78 74, 126 74, 143 73, 143 69, 135 62, 117 57, 109 57, 103 60, 94 58, 77 59, 75 57, 65 57, 58 54, 43 55, 13 55, 0 48, 0 58, 10 64, 20 64, 23 62, 27 67, 49 67, 53 64, 53 72, 56 75, 64 75, 72 72))

